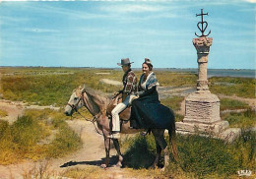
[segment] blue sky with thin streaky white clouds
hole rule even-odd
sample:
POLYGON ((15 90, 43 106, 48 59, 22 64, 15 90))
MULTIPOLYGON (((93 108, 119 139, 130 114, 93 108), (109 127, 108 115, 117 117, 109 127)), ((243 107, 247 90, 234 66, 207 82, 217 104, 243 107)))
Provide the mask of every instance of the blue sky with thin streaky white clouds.
POLYGON ((208 68, 256 69, 256 0, 0 0, 0 66, 197 68, 201 9, 208 68))

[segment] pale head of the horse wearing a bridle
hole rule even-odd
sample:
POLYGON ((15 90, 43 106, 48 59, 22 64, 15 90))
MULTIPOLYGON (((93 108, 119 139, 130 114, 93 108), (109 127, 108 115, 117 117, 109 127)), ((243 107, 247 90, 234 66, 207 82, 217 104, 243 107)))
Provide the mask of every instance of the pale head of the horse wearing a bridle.
POLYGON ((68 104, 65 107, 65 114, 67 116, 72 116, 74 111, 77 111, 79 108, 83 107, 84 99, 83 99, 83 89, 74 89, 73 93, 70 96, 68 104))

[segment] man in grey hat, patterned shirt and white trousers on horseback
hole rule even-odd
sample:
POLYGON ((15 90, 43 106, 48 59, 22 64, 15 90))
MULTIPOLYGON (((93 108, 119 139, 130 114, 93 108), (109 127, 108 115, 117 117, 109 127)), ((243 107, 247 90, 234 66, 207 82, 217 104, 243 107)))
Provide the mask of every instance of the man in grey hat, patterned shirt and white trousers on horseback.
MULTIPOLYGON (((133 63, 133 62, 132 62, 133 63)), ((119 113, 122 112, 128 104, 131 103, 135 92, 137 92, 137 77, 131 69, 131 63, 129 58, 121 59, 121 63, 117 63, 121 66, 124 72, 123 75, 123 89, 119 92, 122 93, 122 102, 117 104, 112 110, 112 133, 108 138, 119 139, 120 138, 120 119, 119 113)))

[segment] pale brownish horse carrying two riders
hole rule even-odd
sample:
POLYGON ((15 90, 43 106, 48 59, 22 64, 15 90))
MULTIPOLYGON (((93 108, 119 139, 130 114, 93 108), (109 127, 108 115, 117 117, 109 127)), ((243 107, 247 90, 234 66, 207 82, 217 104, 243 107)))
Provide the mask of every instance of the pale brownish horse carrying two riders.
MULTIPOLYGON (((102 94, 96 93, 93 89, 74 89, 70 99, 68 101, 68 105, 65 107, 65 114, 67 116, 72 116, 74 111, 77 111, 79 108, 85 106, 89 112, 94 116, 96 120, 96 127, 98 130, 102 132, 104 138, 104 147, 105 147, 105 161, 101 164, 102 167, 107 167, 109 165, 109 150, 110 150, 110 140, 107 139, 107 136, 110 133, 109 127, 109 119, 106 113, 107 106, 111 102, 111 99, 108 97, 103 96, 102 94)), ((122 118, 122 115, 120 115, 122 118)), ((164 167, 168 164, 169 161, 169 153, 166 146, 166 142, 164 140, 164 130, 165 129, 152 129, 152 133, 155 137, 156 144, 157 144, 157 156, 152 165, 155 167, 158 165, 160 160, 160 152, 163 150, 164 152, 164 167), (165 148, 165 149, 163 149, 165 148)), ((171 144, 171 151, 174 156, 174 159, 177 159, 177 148, 175 142, 175 122, 173 120, 172 129, 167 129, 169 135, 169 142, 171 144)), ((130 121, 123 123, 121 126, 121 133, 124 134, 134 134, 138 133, 140 130, 131 129, 130 128, 130 121)), ((118 140, 113 139, 114 147, 118 153, 119 159, 116 163, 116 166, 122 166, 122 154, 120 151, 118 140)))

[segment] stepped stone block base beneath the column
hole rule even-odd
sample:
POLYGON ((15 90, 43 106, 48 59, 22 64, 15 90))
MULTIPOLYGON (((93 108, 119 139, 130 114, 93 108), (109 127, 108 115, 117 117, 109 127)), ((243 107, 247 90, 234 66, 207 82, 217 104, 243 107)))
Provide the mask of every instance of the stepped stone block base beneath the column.
POLYGON ((229 128, 228 122, 220 117, 220 99, 210 90, 198 90, 185 98, 185 117, 176 122, 176 132, 211 136, 231 143, 241 130, 229 128))

